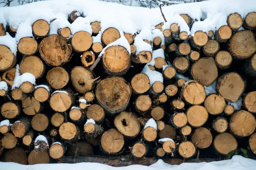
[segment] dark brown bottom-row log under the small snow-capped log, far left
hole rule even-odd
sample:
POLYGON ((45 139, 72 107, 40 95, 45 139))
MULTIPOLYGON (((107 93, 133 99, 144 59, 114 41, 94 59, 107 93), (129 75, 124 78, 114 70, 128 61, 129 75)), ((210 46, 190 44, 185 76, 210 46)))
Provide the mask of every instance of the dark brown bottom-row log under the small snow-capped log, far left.
POLYGON ((46 150, 44 150, 44 151, 32 150, 28 156, 28 163, 30 165, 49 164, 50 163, 49 154, 46 150))

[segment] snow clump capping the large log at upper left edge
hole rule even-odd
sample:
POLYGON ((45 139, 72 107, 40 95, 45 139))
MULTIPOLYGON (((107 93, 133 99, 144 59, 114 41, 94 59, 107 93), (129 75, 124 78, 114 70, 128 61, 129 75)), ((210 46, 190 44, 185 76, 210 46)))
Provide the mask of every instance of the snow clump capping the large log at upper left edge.
POLYGON ((5 45, 6 47, 8 47, 12 51, 12 53, 16 56, 17 42, 15 38, 12 38, 8 32, 6 32, 5 36, 0 36, 0 45, 5 45))

